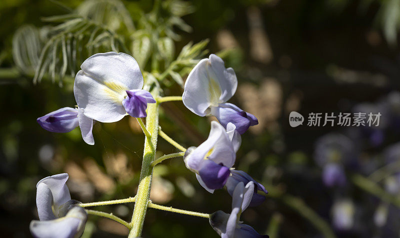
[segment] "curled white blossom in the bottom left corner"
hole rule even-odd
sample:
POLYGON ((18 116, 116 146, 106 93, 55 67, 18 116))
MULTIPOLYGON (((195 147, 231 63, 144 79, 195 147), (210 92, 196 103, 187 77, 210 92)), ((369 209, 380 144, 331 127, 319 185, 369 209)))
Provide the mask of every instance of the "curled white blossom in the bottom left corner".
POLYGON ((79 237, 87 219, 86 211, 71 200, 65 182, 68 174, 45 177, 36 185, 36 205, 40 220, 30 222, 30 231, 37 238, 79 237))

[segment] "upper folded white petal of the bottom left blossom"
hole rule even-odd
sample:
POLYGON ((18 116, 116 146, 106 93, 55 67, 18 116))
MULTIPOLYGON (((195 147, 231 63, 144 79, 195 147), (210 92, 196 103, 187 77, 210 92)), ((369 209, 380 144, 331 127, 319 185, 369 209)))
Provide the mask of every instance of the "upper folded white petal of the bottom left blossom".
POLYGON ((68 187, 65 184, 67 179, 67 173, 60 173, 45 177, 36 184, 36 188, 38 188, 40 183, 44 183, 51 190, 55 210, 71 199, 68 187))

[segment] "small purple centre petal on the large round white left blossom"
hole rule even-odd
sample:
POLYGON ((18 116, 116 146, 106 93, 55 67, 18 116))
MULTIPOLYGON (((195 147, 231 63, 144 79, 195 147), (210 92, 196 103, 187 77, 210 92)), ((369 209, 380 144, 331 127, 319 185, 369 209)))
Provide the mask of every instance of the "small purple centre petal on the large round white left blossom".
POLYGON ((147 103, 155 103, 150 92, 142 89, 126 91, 127 97, 122 100, 126 112, 133 117, 146 117, 147 103))

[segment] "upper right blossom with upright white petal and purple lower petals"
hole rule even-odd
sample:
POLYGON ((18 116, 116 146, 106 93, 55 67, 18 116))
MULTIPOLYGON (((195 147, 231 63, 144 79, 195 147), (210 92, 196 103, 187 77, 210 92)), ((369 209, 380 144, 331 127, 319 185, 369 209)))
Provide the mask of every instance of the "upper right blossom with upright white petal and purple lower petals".
POLYGON ((215 54, 201 59, 191 70, 184 84, 183 104, 193 113, 214 115, 225 128, 229 122, 243 134, 257 118, 232 103, 227 103, 236 91, 237 78, 232 68, 225 68, 215 54))

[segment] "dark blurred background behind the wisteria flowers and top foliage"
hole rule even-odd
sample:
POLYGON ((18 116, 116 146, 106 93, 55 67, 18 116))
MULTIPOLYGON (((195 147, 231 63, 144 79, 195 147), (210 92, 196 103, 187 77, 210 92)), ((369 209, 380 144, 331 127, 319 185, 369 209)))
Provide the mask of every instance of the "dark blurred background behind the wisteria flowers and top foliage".
MULTIPOLYGON (((122 3, 133 22, 139 10, 152 9, 151 1, 122 3)), ((243 134, 235 165, 262 182, 269 194, 262 205, 243 212, 242 220, 270 237, 398 237, 400 166, 395 159, 400 152, 392 145, 399 141, 400 132, 396 37, 400 2, 188 3, 193 11, 182 18, 192 30, 177 30, 181 38, 176 41, 176 52, 189 41, 208 38, 209 52, 220 52, 225 65, 237 74, 238 89, 231 101, 259 120, 243 134), (337 114, 360 108, 381 111, 381 120, 386 122, 381 121, 382 125, 372 131, 305 123, 293 128, 288 124, 290 111, 306 117, 310 112, 337 114), (335 134, 345 136, 348 142, 335 134), (318 146, 322 152, 315 152, 318 146), (327 162, 318 162, 318 154, 329 157, 331 151, 339 154, 334 162, 344 172, 331 179, 345 177, 343 183, 332 185, 322 179, 327 162)), ((81 4, 80 0, 62 4, 52 0, 0 2, 2 237, 30 237, 28 224, 37 219, 35 184, 42 177, 67 172, 71 196, 82 202, 125 198, 137 189, 144 136, 136 120, 126 116, 115 123, 96 123, 93 146, 82 141, 79 128, 62 134, 43 130, 35 121, 37 117, 75 105, 73 75, 66 76, 62 87, 45 77, 33 83, 34 71, 15 59, 17 29, 26 24, 40 29, 56 25, 42 17, 65 14, 67 8, 76 9, 81 4)), ((165 90, 167 95, 181 93, 179 87, 165 90)), ((163 131, 183 146, 198 145, 207 137, 209 118, 196 116, 181 102, 166 102, 161 108, 163 131)), ((157 156, 177 152, 161 138, 157 147, 157 156)), ((205 191, 179 158, 156 166, 150 196, 155 203, 182 209, 209 213, 230 210, 226 191, 205 191)), ((95 209, 128 220, 133 204, 95 209)), ((89 216, 84 237, 126 237, 127 232, 112 220, 89 216)), ((217 234, 202 218, 148 209, 142 236, 217 234)))

